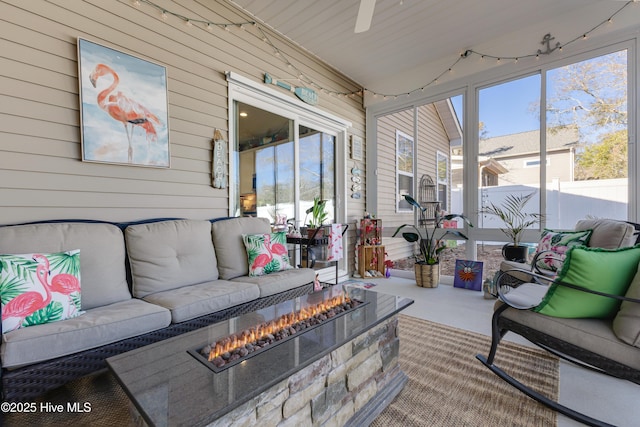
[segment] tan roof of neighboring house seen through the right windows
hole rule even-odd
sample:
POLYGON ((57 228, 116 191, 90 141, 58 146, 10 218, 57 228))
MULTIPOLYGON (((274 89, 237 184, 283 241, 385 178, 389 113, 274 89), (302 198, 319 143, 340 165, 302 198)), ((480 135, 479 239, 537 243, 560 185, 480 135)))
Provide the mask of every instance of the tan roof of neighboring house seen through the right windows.
MULTIPOLYGON (((568 150, 578 145, 578 130, 575 127, 551 132, 547 138, 547 152, 568 150)), ((480 156, 499 159, 540 151, 540 131, 515 133, 480 140, 480 156)))

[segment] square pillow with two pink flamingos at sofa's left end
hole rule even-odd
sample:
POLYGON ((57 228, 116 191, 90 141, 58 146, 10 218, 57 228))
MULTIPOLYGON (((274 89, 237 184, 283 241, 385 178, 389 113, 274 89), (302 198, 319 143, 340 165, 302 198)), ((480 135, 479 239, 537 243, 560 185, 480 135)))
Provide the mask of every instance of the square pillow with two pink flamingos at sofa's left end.
POLYGON ((80 250, 0 255, 2 332, 65 320, 80 311, 80 250))

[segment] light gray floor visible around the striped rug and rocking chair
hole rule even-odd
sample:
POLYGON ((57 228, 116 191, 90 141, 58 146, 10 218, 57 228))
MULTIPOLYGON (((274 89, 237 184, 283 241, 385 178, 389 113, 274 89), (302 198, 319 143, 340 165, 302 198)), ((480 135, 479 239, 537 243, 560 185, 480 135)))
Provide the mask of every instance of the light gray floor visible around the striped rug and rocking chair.
MULTIPOLYGON (((415 303, 403 311, 404 314, 491 335, 494 300, 484 299, 482 292, 454 288, 446 277, 437 288, 421 288, 415 279, 408 278, 412 275, 412 272, 394 271, 389 279, 366 281, 376 284, 373 291, 412 298, 415 303)), ((505 339, 529 344, 513 333, 508 333, 505 339)), ((487 373, 493 375, 488 370, 487 373)), ((617 426, 640 426, 640 386, 563 361, 560 363, 560 402, 617 426)), ((563 415, 558 416, 559 427, 579 425, 563 415)))

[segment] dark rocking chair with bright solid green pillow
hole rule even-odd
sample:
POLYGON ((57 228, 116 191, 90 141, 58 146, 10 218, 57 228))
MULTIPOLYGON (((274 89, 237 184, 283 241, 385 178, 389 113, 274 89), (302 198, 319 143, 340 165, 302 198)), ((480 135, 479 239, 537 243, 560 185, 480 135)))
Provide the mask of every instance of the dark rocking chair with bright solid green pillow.
POLYGON ((487 357, 476 358, 536 401, 591 426, 608 426, 521 383, 495 364, 509 331, 564 359, 640 385, 640 245, 618 250, 574 247, 556 277, 530 269, 501 271, 487 357), (512 278, 526 273, 527 282, 512 278))

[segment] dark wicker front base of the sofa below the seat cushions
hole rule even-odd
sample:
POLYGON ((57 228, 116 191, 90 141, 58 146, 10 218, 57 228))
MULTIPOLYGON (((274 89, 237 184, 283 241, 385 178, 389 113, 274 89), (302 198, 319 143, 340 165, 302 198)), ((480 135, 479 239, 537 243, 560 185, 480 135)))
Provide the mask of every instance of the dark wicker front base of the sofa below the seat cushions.
POLYGON ((144 335, 121 340, 68 356, 17 369, 2 369, 2 400, 26 401, 74 379, 107 368, 106 359, 117 354, 194 331, 211 324, 250 313, 270 305, 313 292, 313 283, 230 307, 212 314, 175 323, 144 335))

